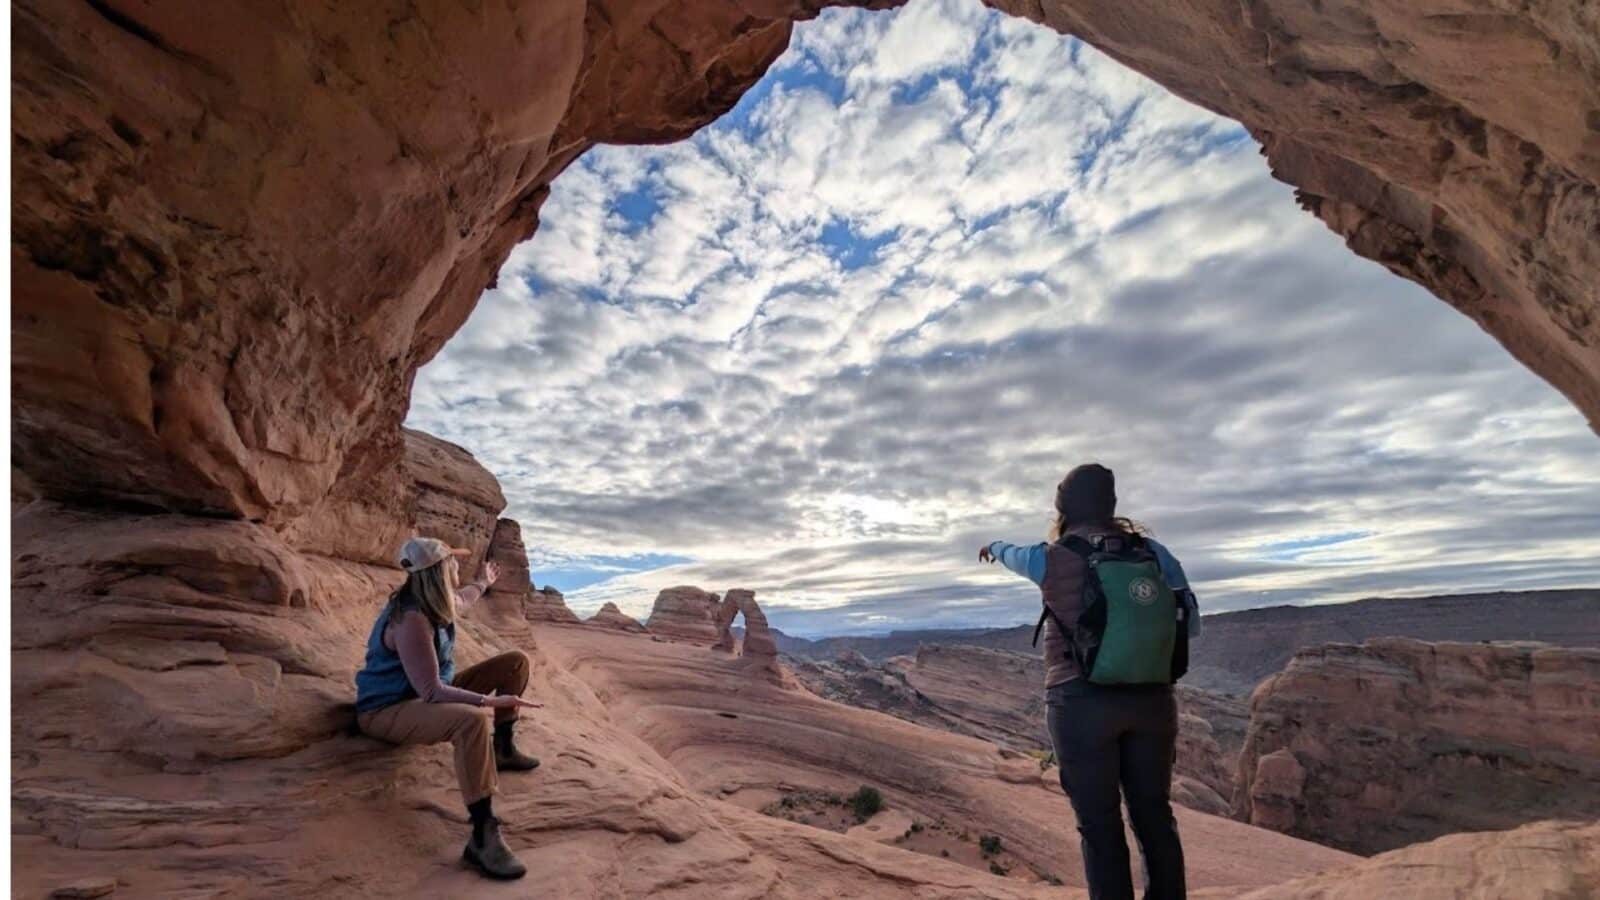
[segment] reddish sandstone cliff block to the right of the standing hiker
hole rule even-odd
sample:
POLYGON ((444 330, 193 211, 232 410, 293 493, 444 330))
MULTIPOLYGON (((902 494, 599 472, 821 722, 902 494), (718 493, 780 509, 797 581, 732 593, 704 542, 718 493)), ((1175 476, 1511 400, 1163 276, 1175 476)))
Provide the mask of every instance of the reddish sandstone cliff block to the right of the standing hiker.
POLYGON ((1304 650, 1251 700, 1240 817, 1357 852, 1600 818, 1600 650, 1304 650))

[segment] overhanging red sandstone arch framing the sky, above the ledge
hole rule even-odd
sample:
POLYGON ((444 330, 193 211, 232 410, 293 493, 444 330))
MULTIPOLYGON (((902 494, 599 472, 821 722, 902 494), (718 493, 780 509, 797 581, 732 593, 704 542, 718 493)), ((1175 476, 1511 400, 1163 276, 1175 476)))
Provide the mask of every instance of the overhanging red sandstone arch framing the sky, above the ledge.
MULTIPOLYGON (((1592 6, 994 5, 1238 119, 1352 250, 1600 426, 1592 6)), ((330 522, 392 512, 349 485, 398 461, 413 375, 549 183, 706 125, 816 6, 18 3, 19 471, 376 559, 330 522)))

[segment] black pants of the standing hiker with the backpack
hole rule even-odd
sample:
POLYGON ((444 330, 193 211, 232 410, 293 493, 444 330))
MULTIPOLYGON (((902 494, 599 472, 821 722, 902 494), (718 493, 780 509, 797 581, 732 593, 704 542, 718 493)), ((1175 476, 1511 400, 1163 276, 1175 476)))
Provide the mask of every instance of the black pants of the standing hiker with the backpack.
POLYGON ((1048 689, 1045 703, 1061 788, 1078 817, 1090 900, 1133 900, 1118 786, 1144 857, 1144 900, 1182 900, 1184 847, 1171 806, 1178 753, 1173 689, 1074 679, 1048 689))

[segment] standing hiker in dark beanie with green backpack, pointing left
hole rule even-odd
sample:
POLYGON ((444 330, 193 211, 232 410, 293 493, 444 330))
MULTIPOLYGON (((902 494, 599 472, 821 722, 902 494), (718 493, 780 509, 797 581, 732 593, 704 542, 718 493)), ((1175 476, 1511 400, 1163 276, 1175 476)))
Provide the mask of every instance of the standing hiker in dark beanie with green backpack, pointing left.
POLYGON ((1171 684, 1187 668, 1198 610, 1178 559, 1115 512, 1110 469, 1078 466, 1056 487, 1048 541, 994 541, 978 559, 1003 564, 1043 593, 1046 722, 1061 788, 1078 818, 1090 897, 1133 900, 1120 785, 1144 857, 1144 898, 1181 900, 1171 684))

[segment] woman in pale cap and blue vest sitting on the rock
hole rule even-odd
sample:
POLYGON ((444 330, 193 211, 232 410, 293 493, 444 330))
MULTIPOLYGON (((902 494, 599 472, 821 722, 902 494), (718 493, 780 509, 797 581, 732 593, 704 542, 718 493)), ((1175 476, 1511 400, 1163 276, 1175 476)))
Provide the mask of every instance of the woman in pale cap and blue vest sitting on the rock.
POLYGON ((528 655, 520 650, 456 674, 456 613, 499 577, 490 562, 478 581, 458 589, 462 556, 469 551, 434 538, 411 538, 402 548, 406 580, 366 639, 366 666, 355 676, 355 721, 365 733, 390 743, 453 743, 456 778, 472 818, 461 857, 490 878, 522 878, 528 870, 501 839, 490 801, 498 770, 539 765, 517 751, 510 737, 518 709, 539 705, 522 698, 528 655))

